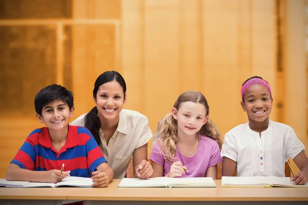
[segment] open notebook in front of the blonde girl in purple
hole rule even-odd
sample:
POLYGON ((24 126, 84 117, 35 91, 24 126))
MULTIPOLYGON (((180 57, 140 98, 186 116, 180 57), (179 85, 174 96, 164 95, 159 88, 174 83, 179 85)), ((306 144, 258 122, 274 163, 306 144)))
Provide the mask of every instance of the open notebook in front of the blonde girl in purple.
POLYGON ((123 178, 118 187, 216 187, 216 184, 211 177, 155 177, 149 179, 123 178))

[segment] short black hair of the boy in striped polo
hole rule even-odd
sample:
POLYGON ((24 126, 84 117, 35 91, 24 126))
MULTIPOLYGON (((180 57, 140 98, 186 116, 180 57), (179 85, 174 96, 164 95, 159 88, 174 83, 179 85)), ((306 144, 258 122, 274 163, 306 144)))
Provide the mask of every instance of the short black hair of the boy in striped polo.
POLYGON ((35 96, 35 112, 42 115, 43 108, 54 100, 63 100, 71 110, 74 106, 73 93, 61 85, 52 84, 40 90, 35 96))

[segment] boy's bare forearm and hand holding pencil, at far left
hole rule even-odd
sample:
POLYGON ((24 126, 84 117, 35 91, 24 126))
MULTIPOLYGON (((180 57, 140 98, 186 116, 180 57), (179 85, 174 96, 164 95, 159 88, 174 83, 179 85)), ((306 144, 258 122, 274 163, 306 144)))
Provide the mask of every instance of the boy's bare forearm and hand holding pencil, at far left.
POLYGON ((6 171, 5 178, 8 181, 34 181, 57 183, 69 176, 70 171, 61 172, 60 170, 32 171, 22 169, 18 165, 11 163, 6 171))

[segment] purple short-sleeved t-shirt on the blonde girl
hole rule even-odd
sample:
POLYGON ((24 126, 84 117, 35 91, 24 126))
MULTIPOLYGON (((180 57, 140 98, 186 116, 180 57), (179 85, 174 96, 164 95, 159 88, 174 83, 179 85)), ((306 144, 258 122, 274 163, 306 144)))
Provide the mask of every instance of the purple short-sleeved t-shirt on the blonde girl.
MULTIPOLYGON (((155 161, 161 166, 164 166, 164 176, 166 176, 172 163, 164 159, 164 155, 160 153, 161 147, 156 142, 153 146, 149 159, 155 161)), ((186 166, 188 172, 185 172, 181 177, 205 177, 207 168, 213 167, 222 161, 220 150, 217 142, 214 139, 199 135, 199 147, 196 154, 192 157, 184 156, 179 148, 175 158, 170 159, 174 162, 181 161, 183 166, 186 166)))

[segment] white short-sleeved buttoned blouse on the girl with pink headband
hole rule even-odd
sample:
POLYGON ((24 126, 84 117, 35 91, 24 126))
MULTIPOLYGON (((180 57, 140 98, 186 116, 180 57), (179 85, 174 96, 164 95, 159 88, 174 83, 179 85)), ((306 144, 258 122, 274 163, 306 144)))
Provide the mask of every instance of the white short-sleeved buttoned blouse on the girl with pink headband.
POLYGON ((287 158, 305 150, 294 130, 285 124, 269 120, 261 133, 249 128, 249 122, 225 134, 221 156, 237 161, 238 176, 284 177, 287 158))

